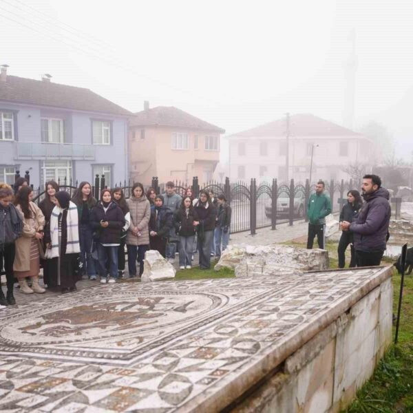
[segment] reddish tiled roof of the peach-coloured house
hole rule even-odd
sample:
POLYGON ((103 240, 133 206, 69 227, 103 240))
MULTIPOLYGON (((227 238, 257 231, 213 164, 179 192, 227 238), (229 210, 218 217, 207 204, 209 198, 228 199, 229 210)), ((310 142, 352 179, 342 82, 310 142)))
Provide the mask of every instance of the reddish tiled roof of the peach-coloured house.
POLYGON ((157 106, 153 109, 142 110, 129 118, 129 126, 169 126, 225 133, 224 129, 195 118, 173 106, 157 106))

